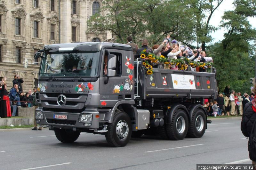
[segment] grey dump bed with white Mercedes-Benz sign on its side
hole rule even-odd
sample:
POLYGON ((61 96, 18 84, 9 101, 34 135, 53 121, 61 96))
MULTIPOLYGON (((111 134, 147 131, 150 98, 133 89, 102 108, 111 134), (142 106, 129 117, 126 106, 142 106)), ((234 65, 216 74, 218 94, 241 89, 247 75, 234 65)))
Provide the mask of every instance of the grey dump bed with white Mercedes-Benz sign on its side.
POLYGON ((147 97, 191 97, 216 98, 217 83, 214 73, 181 71, 153 68, 153 74, 148 75, 141 64, 135 64, 135 96, 147 97), (137 74, 138 72, 138 74, 137 74), (137 81, 137 80, 135 80, 137 81))

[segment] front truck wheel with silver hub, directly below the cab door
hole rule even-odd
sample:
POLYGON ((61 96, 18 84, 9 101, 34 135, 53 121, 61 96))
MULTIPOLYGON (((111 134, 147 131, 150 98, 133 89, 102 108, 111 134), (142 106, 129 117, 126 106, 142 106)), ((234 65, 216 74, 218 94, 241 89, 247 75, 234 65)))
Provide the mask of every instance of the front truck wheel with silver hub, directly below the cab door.
POLYGON ((127 113, 115 112, 113 123, 108 124, 108 132, 105 137, 109 145, 122 147, 128 144, 132 136, 132 123, 127 113))

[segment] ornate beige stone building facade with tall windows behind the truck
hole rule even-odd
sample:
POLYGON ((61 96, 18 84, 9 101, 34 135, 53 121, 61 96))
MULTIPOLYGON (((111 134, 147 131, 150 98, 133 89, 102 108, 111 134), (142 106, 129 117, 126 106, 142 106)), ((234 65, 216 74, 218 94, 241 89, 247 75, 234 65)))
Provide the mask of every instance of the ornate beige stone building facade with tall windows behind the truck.
POLYGON ((40 59, 33 56, 44 45, 113 38, 87 31, 87 20, 101 6, 97 0, 0 0, 0 79, 7 77, 8 90, 15 74, 23 78, 25 92, 37 86, 39 64, 34 62, 40 59))

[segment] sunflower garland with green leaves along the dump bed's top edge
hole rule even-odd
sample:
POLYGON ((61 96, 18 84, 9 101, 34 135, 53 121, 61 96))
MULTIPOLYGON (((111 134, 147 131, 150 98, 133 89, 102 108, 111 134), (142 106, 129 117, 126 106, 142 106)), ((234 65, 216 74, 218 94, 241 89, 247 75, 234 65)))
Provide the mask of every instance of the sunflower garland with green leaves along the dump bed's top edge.
POLYGON ((153 74, 153 63, 157 64, 168 64, 169 67, 177 66, 179 70, 187 70, 188 67, 200 67, 205 69, 205 66, 208 68, 212 67, 212 63, 203 63, 199 61, 191 61, 188 58, 183 59, 169 59, 167 57, 156 56, 153 53, 150 53, 148 49, 144 49, 140 52, 140 58, 142 60, 142 65, 145 67, 147 74, 153 74))

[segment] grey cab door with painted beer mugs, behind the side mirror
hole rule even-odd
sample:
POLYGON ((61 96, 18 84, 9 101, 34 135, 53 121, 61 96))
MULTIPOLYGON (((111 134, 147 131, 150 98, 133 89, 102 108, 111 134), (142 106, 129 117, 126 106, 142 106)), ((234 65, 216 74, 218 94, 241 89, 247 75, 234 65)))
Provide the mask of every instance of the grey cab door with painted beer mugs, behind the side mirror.
POLYGON ((113 107, 118 101, 124 100, 124 51, 116 49, 105 49, 102 56, 100 69, 100 104, 102 107, 113 107), (105 53, 116 55, 116 76, 109 77, 104 75, 104 55, 105 53))

